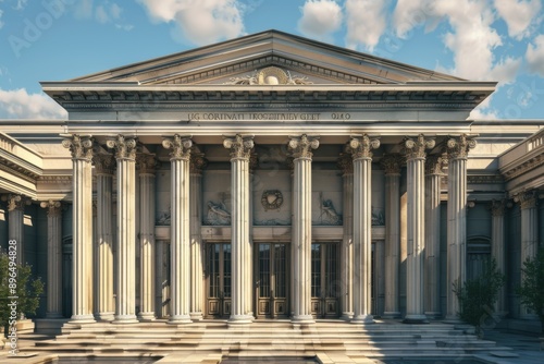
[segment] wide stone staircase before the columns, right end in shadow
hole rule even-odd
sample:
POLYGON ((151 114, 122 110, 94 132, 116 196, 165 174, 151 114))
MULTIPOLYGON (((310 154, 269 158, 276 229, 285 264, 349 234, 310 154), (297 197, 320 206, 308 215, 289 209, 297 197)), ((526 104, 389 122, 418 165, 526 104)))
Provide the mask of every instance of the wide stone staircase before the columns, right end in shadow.
MULTIPOLYGON (((489 351, 509 351, 493 341, 478 340, 467 327, 432 323, 405 325, 378 320, 354 325, 318 320, 293 325, 289 320, 256 320, 228 327, 226 321, 203 320, 169 325, 163 320, 132 325, 65 324, 62 333, 27 348, 38 357, 129 357, 137 363, 381 363, 385 359, 462 360, 489 351), (141 362, 136 361, 141 360, 141 362)), ((22 363, 17 361, 17 363, 22 363)), ((97 362, 98 363, 98 362, 97 362)))

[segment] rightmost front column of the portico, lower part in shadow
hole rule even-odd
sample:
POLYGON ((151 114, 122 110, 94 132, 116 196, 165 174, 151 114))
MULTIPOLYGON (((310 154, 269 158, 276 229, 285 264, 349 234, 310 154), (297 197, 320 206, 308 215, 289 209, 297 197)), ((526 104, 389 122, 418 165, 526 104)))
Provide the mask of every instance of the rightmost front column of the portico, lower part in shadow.
POLYGON ((467 277, 467 158, 475 141, 462 134, 447 141, 447 313, 446 320, 459 320, 459 302, 454 284, 463 284, 467 277))

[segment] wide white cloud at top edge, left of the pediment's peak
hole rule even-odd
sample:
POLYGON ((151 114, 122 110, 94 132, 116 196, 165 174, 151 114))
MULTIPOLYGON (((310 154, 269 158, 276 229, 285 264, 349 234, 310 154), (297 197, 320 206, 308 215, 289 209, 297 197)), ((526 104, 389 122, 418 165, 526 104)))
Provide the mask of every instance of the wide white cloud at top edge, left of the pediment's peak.
POLYGON ((244 5, 237 0, 138 0, 149 16, 158 22, 175 24, 173 37, 196 45, 243 35, 244 5))

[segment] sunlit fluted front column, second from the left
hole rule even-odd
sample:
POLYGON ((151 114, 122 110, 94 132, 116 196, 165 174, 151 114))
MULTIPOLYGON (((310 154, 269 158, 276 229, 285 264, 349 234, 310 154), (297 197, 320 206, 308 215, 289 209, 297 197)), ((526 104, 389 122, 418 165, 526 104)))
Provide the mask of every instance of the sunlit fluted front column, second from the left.
POLYGON ((118 324, 137 323, 136 319, 136 141, 118 135, 107 142, 115 149, 118 160, 118 241, 116 275, 118 324))

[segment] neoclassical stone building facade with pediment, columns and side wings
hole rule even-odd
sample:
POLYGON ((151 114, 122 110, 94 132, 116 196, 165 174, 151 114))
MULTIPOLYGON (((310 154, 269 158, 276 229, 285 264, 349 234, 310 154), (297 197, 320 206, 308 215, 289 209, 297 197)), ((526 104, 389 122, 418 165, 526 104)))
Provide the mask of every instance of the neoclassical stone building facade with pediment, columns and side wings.
POLYGON ((1 121, 1 247, 81 324, 455 321, 491 257, 531 318, 544 132, 469 119, 495 86, 275 31, 42 82, 69 118, 1 121))

